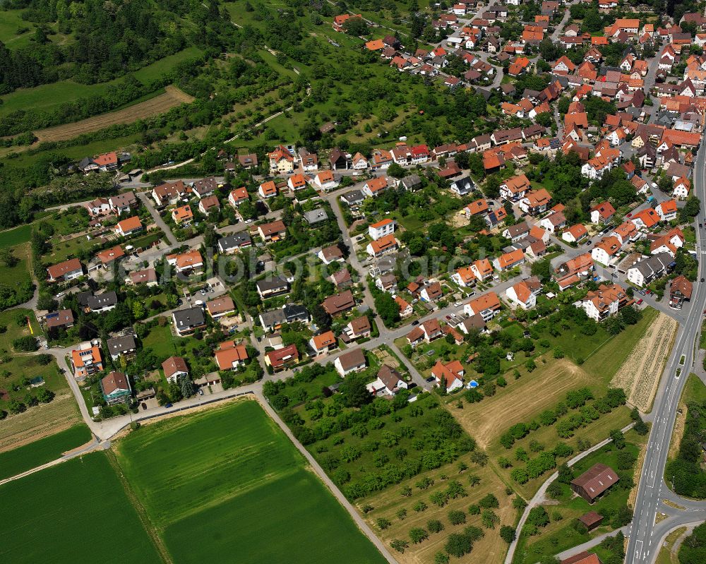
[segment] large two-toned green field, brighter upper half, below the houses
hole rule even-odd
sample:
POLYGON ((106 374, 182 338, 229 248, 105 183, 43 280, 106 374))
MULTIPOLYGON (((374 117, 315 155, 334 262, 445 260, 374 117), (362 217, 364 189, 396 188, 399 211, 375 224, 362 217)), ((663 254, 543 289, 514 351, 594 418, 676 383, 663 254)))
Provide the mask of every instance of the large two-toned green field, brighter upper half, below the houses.
POLYGON ((256 402, 144 426, 115 448, 175 561, 384 561, 256 402))

